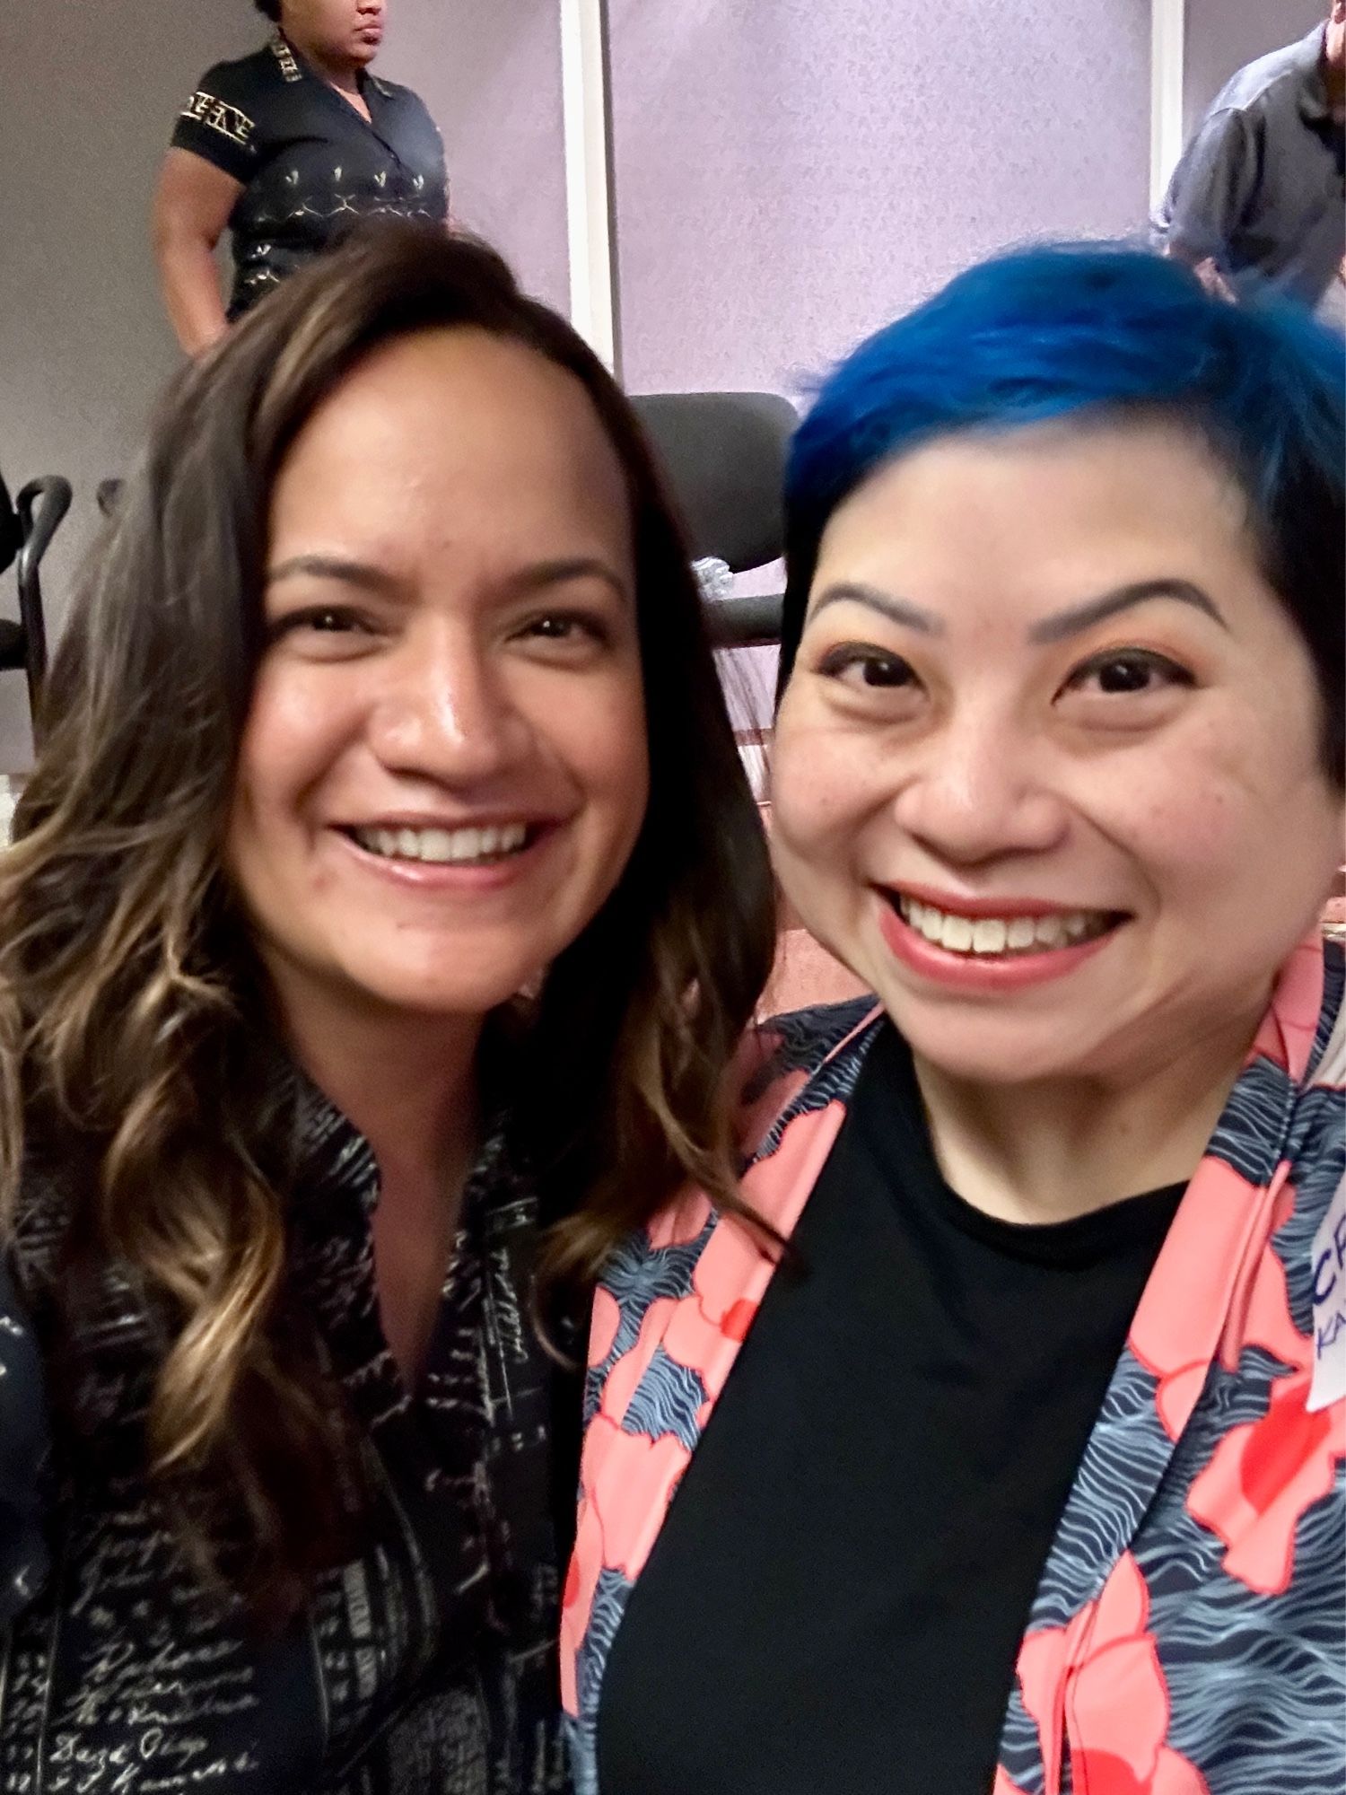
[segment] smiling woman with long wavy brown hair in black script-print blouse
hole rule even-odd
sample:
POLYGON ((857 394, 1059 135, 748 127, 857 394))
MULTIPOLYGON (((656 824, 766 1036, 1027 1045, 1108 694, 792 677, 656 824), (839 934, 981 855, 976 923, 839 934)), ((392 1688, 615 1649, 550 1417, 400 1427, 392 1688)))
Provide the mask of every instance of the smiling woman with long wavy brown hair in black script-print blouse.
POLYGON ((391 224, 183 372, 0 858, 4 1795, 565 1786, 538 1224, 727 1178, 770 944, 565 323, 391 224))

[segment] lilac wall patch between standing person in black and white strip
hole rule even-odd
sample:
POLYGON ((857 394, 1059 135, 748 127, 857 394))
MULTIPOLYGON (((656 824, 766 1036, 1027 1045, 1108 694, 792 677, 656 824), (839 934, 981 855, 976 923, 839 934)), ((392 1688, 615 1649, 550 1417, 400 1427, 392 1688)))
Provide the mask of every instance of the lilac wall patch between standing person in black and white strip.
POLYGON ((443 131, 459 224, 565 311, 565 144, 556 0, 389 0, 379 70, 443 131))

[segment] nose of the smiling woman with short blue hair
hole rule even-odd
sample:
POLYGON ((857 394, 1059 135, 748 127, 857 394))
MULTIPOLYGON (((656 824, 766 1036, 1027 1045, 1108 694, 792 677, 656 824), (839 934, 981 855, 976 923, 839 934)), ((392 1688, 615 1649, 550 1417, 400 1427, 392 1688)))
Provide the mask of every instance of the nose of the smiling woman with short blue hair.
POLYGON ((931 734, 894 811, 905 835, 957 867, 1048 853, 1070 826, 1039 745, 994 714, 955 713, 931 734))

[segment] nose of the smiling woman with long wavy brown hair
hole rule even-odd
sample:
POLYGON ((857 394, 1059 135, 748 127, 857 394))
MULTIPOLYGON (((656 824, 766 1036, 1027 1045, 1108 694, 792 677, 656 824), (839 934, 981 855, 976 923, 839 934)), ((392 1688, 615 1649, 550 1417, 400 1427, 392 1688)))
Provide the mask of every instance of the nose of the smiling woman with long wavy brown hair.
POLYGON ((465 628, 416 632, 386 666, 366 736, 395 774, 483 786, 515 772, 535 734, 510 680, 465 628))

